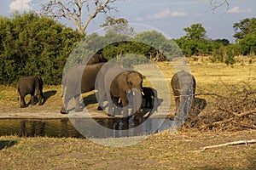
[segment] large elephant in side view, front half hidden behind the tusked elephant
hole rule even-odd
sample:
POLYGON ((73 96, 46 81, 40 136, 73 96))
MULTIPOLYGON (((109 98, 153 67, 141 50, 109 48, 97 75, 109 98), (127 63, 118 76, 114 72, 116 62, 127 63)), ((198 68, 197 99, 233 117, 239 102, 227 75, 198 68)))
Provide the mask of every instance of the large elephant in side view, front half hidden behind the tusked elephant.
POLYGON ((79 106, 80 94, 95 89, 98 72, 106 63, 93 65, 76 65, 69 68, 62 78, 62 94, 64 98, 61 114, 67 114, 67 104, 72 98, 75 100, 75 111, 83 111, 79 106))

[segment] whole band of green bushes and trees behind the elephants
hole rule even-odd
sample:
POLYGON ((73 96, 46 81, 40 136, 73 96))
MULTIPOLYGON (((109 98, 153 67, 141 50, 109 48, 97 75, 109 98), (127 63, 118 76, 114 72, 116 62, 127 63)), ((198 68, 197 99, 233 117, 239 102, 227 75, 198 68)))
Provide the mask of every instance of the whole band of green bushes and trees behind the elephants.
POLYGON ((0 84, 14 85, 20 76, 30 75, 41 76, 46 84, 61 84, 67 59, 73 59, 73 64, 83 63, 84 54, 90 53, 108 59, 127 54, 127 65, 134 60, 141 64, 147 59, 164 61, 183 54, 210 54, 212 62, 229 65, 236 55, 255 54, 255 20, 235 23, 236 44, 230 44, 227 39, 207 39, 201 24, 184 28, 186 36, 170 40, 157 31, 136 33, 127 20, 107 17, 102 24, 104 36, 92 33, 83 38, 79 31, 32 12, 15 13, 11 18, 0 16, 0 84), (132 59, 136 55, 129 54, 144 58, 132 59))

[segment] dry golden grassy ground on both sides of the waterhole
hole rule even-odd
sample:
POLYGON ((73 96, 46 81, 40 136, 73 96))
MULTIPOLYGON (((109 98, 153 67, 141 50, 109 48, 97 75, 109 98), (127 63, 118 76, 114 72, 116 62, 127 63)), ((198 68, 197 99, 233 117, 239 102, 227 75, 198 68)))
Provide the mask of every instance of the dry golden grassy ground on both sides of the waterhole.
MULTIPOLYGON (((189 68, 197 82, 196 94, 230 94, 230 90, 256 88, 256 59, 249 64, 247 58, 236 65, 212 64, 206 57, 189 59, 189 68)), ((241 59, 237 59, 241 60, 241 59)), ((158 63, 169 83, 175 72, 172 63, 158 63)), ((148 82, 145 81, 148 85, 148 82)), ((64 117, 61 107, 61 86, 45 86, 47 98, 43 106, 29 105, 20 109, 15 88, 0 87, 0 117, 64 117)), ((172 94, 172 92, 170 92, 172 94)), ((93 100, 91 93, 87 102, 93 100)), ((164 94, 160 96, 165 97, 164 94)), ((207 99, 207 107, 199 116, 217 110, 212 95, 201 95, 207 99)), ((27 98, 29 99, 29 98, 27 98)), ((96 109, 96 103, 87 105, 96 109)), ((253 108, 255 109, 255 108, 253 108)), ((173 102, 168 115, 174 112, 173 102)), ((217 112, 218 113, 218 112, 217 112)), ((105 115, 102 115, 104 117, 105 115)), ((132 137, 131 140, 137 137, 132 137)), ((256 139, 252 128, 199 130, 183 129, 177 133, 151 135, 142 142, 126 147, 107 147, 90 139, 73 138, 19 138, 0 137, 1 169, 255 169, 256 144, 236 144, 201 150, 212 144, 224 144, 237 140, 256 139)))

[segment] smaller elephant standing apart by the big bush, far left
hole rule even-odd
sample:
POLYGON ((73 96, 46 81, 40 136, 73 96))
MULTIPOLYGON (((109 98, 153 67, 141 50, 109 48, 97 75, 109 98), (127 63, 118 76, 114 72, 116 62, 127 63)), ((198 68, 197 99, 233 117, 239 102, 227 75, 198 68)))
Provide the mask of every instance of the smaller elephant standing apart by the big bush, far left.
POLYGON ((20 94, 20 107, 26 107, 25 97, 31 95, 31 105, 36 105, 35 94, 38 98, 38 105, 44 104, 43 80, 38 76, 20 77, 17 82, 17 91, 20 94))

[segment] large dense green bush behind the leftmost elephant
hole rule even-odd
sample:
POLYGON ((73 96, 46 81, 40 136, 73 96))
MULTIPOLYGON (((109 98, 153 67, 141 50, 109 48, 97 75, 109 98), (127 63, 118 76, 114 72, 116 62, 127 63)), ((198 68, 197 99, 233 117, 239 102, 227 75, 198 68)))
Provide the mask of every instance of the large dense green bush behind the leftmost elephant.
POLYGON ((0 20, 0 83, 15 84, 20 76, 38 75, 47 84, 59 84, 79 34, 35 13, 0 20))

